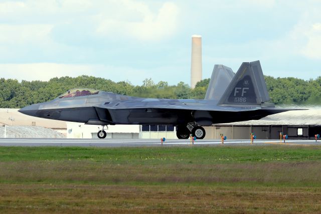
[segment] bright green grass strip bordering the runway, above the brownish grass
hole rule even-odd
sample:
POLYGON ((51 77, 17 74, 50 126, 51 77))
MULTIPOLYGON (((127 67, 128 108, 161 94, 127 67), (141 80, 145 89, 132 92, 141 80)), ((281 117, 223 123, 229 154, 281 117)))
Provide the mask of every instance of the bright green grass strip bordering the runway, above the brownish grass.
POLYGON ((92 160, 110 163, 238 163, 321 160, 320 146, 0 147, 0 161, 92 160))

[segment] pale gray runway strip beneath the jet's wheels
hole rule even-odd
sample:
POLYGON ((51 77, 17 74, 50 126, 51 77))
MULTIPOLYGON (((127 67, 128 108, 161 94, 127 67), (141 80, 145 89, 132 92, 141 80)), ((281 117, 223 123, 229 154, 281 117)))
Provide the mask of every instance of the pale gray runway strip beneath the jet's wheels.
MULTIPOLYGON (((226 140, 224 145, 321 145, 321 141, 315 140, 226 140)), ((0 138, 0 146, 84 146, 84 147, 139 147, 139 146, 218 146, 221 140, 196 140, 194 144, 190 140, 170 139, 161 143, 159 139, 67 139, 67 138, 0 138)))

